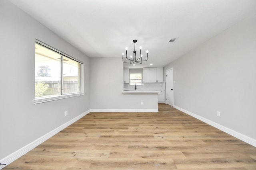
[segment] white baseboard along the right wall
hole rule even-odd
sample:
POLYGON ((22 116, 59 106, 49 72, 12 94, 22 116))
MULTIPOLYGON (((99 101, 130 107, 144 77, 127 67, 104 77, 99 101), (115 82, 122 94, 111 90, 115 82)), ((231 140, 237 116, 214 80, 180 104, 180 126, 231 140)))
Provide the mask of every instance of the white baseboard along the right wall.
POLYGON ((228 133, 229 135, 232 135, 233 137, 236 137, 236 138, 238 138, 238 139, 240 139, 240 140, 242 140, 242 141, 244 141, 244 142, 246 142, 246 143, 256 147, 256 140, 255 139, 252 139, 252 138, 250 138, 250 137, 248 137, 246 135, 243 135, 243 134, 241 134, 241 133, 239 133, 237 131, 229 129, 229 128, 225 127, 225 126, 222 126, 222 125, 220 125, 220 124, 218 124, 218 123, 216 123, 214 121, 210 121, 210 120, 208 120, 208 119, 206 119, 204 117, 196 115, 195 113, 192 113, 190 111, 182 109, 182 108, 180 108, 178 106, 174 106, 174 108, 176 108, 176 109, 178 109, 178 110, 180 110, 180 111, 182 111, 182 112, 184 112, 184 113, 186 113, 186 114, 188 114, 188 115, 190 115, 192 117, 195 117, 196 119, 199 119, 200 121, 203 121, 204 123, 207 123, 208 125, 216 127, 217 129, 220 129, 221 131, 224 131, 224 132, 228 133))

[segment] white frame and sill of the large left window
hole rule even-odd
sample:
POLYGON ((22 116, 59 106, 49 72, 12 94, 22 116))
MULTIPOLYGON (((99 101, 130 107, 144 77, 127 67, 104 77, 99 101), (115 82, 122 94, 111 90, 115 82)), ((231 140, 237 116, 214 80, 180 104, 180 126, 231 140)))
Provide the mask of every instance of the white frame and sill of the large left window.
MULTIPOLYGON (((75 59, 73 57, 71 57, 70 55, 67 55, 66 53, 63 53, 62 51, 59 51, 57 50, 56 48, 54 47, 51 47, 50 45, 47 45, 45 43, 43 43, 42 41, 39 41, 38 39, 36 39, 35 43, 37 43, 38 45, 41 45, 43 47, 46 47, 52 51, 55 51, 56 53, 59 53, 62 57, 61 57, 61 60, 60 60, 60 64, 61 64, 61 94, 59 95, 52 95, 52 96, 43 96, 43 97, 40 97, 40 98, 35 98, 35 86, 34 86, 34 100, 33 100, 33 103, 34 104, 39 104, 39 103, 43 103, 43 102, 50 102, 50 101, 54 101, 54 100, 60 100, 60 99, 64 99, 64 98, 71 98, 71 97, 75 97, 75 96, 82 96, 84 95, 84 74, 83 74, 83 70, 84 70, 84 64, 82 61, 79 61, 78 59, 75 59), (80 92, 77 92, 77 93, 69 93, 69 94, 63 94, 63 57, 68 57, 69 59, 72 59, 78 63, 80 63, 79 65, 79 72, 78 72, 78 76, 79 76, 79 90, 80 92)), ((34 58, 35 59, 35 58, 34 58)), ((34 62, 35 64, 35 62, 34 62)), ((35 65, 34 65, 35 67, 35 65)), ((35 68, 34 68, 35 70, 35 68)), ((34 74, 34 85, 35 85, 35 74, 34 74)))

